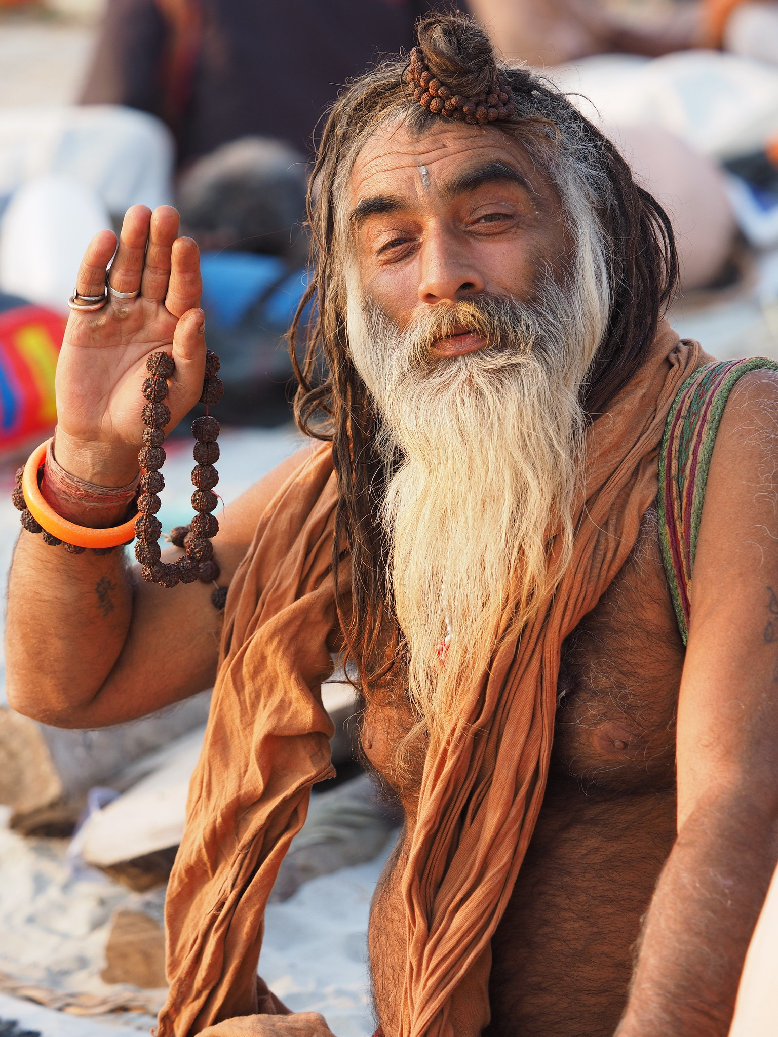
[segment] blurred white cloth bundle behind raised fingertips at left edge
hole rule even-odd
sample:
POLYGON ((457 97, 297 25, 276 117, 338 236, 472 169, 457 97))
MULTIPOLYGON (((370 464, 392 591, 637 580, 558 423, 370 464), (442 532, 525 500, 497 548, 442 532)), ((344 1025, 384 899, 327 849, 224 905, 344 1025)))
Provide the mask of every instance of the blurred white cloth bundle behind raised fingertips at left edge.
POLYGON ((173 144, 116 105, 0 109, 0 291, 66 312, 91 237, 171 200, 173 144))

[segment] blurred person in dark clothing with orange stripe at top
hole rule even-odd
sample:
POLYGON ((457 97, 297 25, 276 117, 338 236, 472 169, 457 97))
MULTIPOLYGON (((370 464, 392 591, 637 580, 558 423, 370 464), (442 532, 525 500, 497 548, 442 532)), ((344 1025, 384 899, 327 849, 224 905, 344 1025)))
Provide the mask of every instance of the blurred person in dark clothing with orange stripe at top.
POLYGON ((178 162, 247 135, 307 152, 337 84, 413 45, 432 0, 109 0, 85 104, 160 116, 178 162))

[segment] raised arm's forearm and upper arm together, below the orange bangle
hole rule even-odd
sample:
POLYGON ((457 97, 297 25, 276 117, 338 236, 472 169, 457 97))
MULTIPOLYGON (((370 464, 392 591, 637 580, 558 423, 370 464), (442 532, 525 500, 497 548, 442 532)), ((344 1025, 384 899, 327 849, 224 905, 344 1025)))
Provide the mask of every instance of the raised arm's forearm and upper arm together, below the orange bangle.
MULTIPOLYGON (((178 554, 168 549, 163 560, 178 554)), ((226 583, 238 552, 217 542, 217 555, 226 583)), ((6 625, 8 699, 20 712, 57 727, 106 727, 213 685, 223 615, 213 585, 147 584, 131 559, 71 556, 22 534, 6 625)))

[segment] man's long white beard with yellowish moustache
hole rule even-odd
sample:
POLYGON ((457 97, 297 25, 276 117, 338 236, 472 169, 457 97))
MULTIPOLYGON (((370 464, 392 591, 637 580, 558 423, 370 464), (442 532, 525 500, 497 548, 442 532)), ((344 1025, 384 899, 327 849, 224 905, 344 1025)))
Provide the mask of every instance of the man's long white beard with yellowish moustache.
POLYGON ((352 357, 380 411, 387 463, 401 458, 382 517, 409 695, 420 726, 444 735, 505 617, 525 624, 569 559, 579 390, 598 343, 581 341, 580 320, 567 319, 571 302, 553 284, 531 307, 493 297, 487 312, 442 304, 405 333, 354 292, 350 300, 352 357), (441 331, 474 319, 489 347, 430 360, 441 331))

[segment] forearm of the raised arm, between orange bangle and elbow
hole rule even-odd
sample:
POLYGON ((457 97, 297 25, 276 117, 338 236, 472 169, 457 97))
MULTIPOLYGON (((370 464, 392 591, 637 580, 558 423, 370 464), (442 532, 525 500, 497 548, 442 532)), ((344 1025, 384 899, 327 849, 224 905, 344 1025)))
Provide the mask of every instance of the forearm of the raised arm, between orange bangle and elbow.
POLYGON ((115 666, 132 612, 132 582, 121 549, 71 555, 23 530, 8 581, 11 705, 49 724, 77 720, 115 666))

